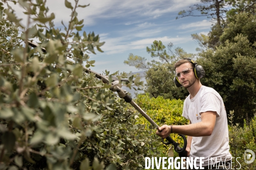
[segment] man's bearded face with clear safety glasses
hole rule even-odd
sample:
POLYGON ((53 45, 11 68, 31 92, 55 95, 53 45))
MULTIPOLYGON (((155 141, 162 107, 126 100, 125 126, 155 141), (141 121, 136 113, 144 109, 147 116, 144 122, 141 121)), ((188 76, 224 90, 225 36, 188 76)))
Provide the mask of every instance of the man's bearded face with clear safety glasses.
POLYGON ((186 62, 175 69, 176 75, 180 75, 178 79, 184 88, 189 88, 196 81, 194 69, 191 68, 193 68, 192 65, 186 62))

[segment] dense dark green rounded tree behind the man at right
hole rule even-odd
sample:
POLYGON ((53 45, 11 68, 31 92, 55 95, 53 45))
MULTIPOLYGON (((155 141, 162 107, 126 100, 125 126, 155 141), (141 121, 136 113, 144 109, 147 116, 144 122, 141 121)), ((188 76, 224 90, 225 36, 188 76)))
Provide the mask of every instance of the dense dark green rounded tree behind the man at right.
POLYGON ((234 110, 236 122, 256 113, 256 16, 241 13, 227 25, 221 45, 200 54, 206 77, 203 85, 222 96, 227 110, 234 110))

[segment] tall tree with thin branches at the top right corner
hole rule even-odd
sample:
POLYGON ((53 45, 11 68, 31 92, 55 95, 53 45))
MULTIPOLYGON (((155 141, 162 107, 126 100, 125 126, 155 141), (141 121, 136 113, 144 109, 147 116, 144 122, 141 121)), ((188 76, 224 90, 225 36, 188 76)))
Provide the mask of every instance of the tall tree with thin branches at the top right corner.
POLYGON ((255 0, 201 0, 201 2, 205 6, 196 4, 190 7, 189 10, 183 10, 178 13, 180 17, 210 15, 214 19, 217 18, 217 23, 213 24, 207 35, 192 34, 193 40, 199 45, 199 48, 196 49, 197 51, 205 51, 208 48, 215 50, 216 47, 221 45, 220 37, 224 28, 228 23, 236 20, 237 14, 241 12, 246 12, 249 15, 256 14, 255 0), (220 8, 223 9, 220 10, 220 8), (201 15, 193 15, 193 10, 201 11, 201 15), (219 19, 220 23, 218 22, 217 14, 222 16, 219 19))

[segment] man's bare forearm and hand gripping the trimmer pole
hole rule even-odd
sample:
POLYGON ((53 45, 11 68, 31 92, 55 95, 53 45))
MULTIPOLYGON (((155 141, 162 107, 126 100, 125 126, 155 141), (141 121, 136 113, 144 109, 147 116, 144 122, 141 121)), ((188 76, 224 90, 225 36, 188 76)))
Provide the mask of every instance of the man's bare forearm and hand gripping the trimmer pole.
MULTIPOLYGON (((201 113, 201 122, 189 125, 173 125, 172 133, 178 133, 187 136, 210 136, 212 135, 212 131, 215 126, 216 114, 217 113, 215 111, 207 111, 201 113)), ((159 130, 163 131, 157 131, 157 135, 162 138, 166 138, 171 133, 171 126, 163 125, 159 128, 159 130)))

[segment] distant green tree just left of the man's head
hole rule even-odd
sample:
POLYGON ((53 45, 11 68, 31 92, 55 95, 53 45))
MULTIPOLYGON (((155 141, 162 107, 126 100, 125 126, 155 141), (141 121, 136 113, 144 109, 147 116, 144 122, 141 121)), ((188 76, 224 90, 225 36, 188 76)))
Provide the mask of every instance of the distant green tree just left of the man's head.
POLYGON ((145 92, 151 97, 163 96, 165 99, 185 99, 186 96, 183 94, 188 94, 184 88, 177 88, 173 82, 174 63, 178 59, 192 58, 194 55, 186 53, 179 47, 172 50, 172 47, 173 44, 169 43, 166 50, 166 46, 161 41, 155 40, 151 48, 147 47, 146 50, 152 58, 157 57, 156 60, 147 62, 145 57, 130 54, 128 60, 124 62, 135 68, 145 70, 145 92))

